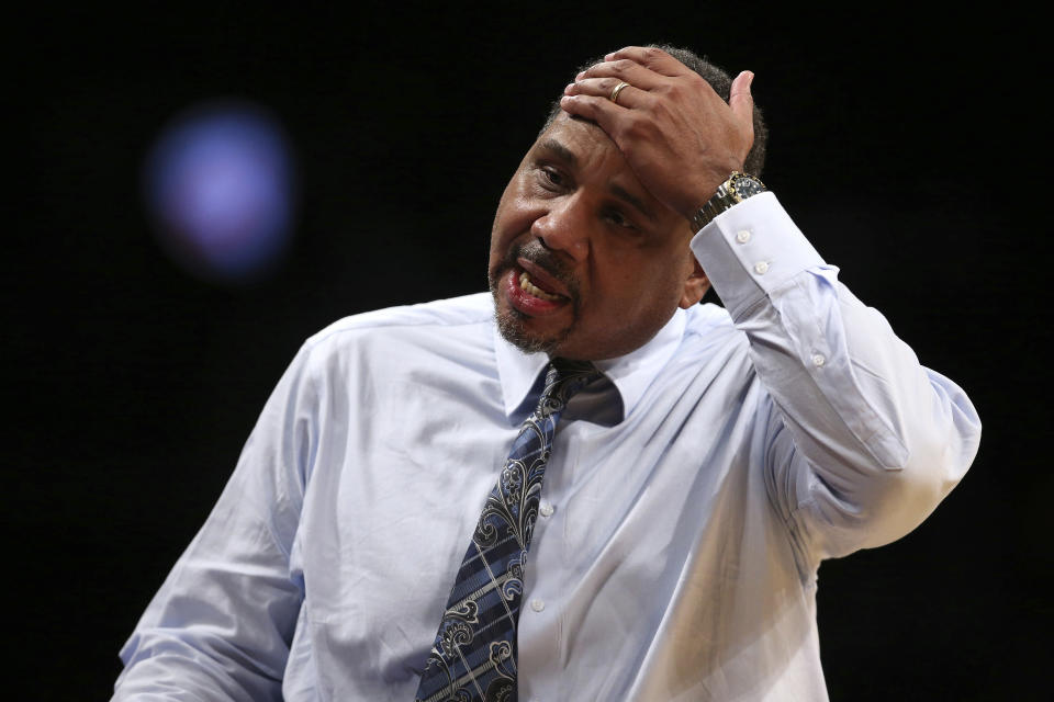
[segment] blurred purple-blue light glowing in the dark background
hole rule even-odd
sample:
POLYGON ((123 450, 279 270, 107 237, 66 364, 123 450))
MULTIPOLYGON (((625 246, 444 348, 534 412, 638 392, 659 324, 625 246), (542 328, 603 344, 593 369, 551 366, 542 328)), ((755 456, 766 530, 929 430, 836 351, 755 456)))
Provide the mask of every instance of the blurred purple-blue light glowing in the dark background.
POLYGON ((240 281, 284 252, 293 172, 281 129, 259 107, 212 103, 177 117, 144 173, 165 250, 203 278, 240 281))

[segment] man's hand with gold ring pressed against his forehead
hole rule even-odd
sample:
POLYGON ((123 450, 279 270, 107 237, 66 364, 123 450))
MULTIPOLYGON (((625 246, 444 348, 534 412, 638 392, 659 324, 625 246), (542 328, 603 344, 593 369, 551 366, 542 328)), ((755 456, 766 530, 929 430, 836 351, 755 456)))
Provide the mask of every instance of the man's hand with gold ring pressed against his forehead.
POLYGON ((687 218, 743 168, 754 140, 753 77, 739 73, 726 103, 664 50, 630 46, 579 73, 560 106, 596 122, 655 200, 687 218))

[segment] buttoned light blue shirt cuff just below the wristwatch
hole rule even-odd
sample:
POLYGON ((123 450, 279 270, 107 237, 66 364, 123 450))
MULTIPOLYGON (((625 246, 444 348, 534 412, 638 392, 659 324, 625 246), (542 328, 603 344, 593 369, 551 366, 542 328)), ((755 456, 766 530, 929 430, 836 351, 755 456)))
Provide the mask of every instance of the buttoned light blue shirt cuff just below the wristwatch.
POLYGON ((771 192, 719 214, 691 246, 733 320, 803 271, 825 265, 771 192))

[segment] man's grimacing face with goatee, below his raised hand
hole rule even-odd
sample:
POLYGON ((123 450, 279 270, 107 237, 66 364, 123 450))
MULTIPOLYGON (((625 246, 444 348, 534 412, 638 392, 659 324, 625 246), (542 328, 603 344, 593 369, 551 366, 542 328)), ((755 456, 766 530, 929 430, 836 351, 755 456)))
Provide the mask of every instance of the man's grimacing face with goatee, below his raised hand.
POLYGON ((706 291, 691 235, 603 129, 561 113, 494 217, 489 274, 503 336, 569 359, 629 353, 706 291))

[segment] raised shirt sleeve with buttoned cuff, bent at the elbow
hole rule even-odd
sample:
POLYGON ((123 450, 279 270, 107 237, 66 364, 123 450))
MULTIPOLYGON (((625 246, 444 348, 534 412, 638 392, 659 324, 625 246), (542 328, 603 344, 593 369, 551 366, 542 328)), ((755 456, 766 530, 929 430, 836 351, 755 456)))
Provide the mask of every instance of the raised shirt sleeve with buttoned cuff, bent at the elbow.
POLYGON ((911 531, 977 452, 963 390, 838 281, 773 193, 716 217, 692 248, 774 405, 766 486, 804 555, 818 563, 911 531))

